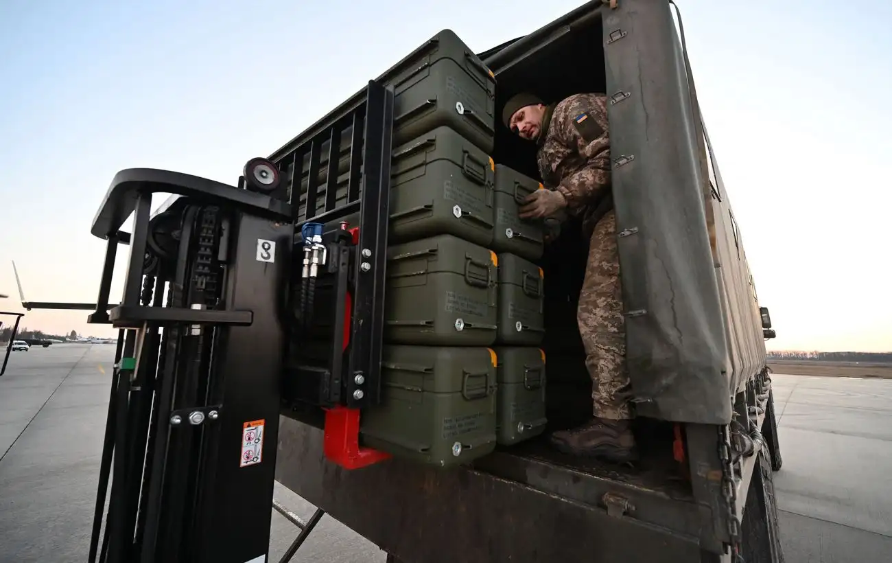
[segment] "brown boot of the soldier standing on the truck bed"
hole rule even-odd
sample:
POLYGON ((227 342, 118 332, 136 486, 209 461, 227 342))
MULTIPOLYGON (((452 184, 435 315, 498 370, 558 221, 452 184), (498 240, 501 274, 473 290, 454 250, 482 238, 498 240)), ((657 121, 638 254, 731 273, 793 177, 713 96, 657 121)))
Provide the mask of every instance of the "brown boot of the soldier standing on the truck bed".
POLYGON ((638 460, 631 420, 592 418, 582 426, 553 433, 550 441, 558 451, 567 455, 614 463, 638 460))

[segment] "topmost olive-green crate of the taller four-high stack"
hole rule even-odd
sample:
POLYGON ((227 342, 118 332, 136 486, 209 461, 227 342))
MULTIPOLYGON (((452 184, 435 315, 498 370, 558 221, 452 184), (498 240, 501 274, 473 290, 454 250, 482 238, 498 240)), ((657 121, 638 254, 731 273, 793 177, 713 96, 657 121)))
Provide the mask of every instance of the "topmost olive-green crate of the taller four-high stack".
MULTIPOLYGON (((446 126, 466 137, 484 153, 491 153, 495 136, 495 78, 486 65, 450 29, 431 37, 378 79, 393 87, 393 145, 408 143, 434 128, 446 126)), ((355 96, 354 96, 355 97, 355 96)), ((357 100, 355 103, 359 103, 357 100)), ((353 98, 326 120, 355 107, 353 98)), ((352 127, 343 130, 338 151, 338 174, 350 168, 352 127)), ((319 146, 318 185, 328 175, 330 142, 319 146)), ((285 171, 285 170, 283 170, 285 171)), ((285 180, 291 181, 291 170, 285 180)), ((301 193, 307 191, 310 156, 301 161, 301 193)))

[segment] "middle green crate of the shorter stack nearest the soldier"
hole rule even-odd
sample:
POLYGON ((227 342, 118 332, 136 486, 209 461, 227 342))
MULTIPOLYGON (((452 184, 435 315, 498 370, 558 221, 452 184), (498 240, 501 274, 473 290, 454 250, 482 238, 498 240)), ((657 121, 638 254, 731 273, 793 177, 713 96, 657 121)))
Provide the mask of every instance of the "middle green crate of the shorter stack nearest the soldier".
POLYGON ((545 336, 542 270, 515 254, 499 254, 498 344, 538 346, 545 336))

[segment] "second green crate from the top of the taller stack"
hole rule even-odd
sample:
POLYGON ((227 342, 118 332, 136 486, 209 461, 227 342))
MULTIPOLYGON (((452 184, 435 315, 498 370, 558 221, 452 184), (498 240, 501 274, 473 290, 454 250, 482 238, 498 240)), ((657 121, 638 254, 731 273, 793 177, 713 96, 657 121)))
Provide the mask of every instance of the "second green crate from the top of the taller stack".
MULTIPOLYGON (((490 244, 493 166, 473 143, 451 128, 435 128, 394 149, 391 172, 392 242, 449 234, 490 244)), ((338 178, 337 207, 347 203, 348 178, 348 173, 338 178)), ((306 197, 301 194, 299 217, 306 197)), ((320 186, 310 217, 325 210, 325 198, 326 188, 320 186)))

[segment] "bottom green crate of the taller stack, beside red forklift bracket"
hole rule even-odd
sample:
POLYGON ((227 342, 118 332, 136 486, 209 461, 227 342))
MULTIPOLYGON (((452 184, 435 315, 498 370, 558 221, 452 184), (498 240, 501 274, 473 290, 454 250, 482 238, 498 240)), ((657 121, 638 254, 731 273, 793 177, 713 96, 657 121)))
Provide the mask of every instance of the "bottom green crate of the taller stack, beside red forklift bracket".
POLYGON ((381 403, 363 410, 369 447, 438 467, 496 445, 496 354, 489 348, 387 345, 381 403))

